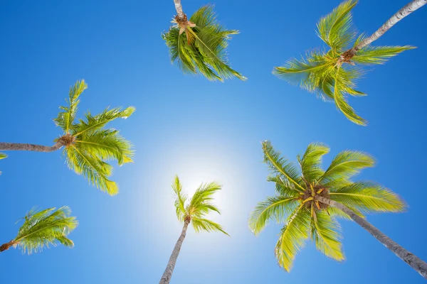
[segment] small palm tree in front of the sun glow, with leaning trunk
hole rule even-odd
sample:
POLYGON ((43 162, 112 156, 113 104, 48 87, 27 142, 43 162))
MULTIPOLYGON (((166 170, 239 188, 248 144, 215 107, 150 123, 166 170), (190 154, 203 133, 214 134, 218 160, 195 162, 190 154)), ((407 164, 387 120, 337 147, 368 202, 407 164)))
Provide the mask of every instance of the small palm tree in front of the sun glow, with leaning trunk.
POLYGON ((221 185, 218 185, 216 182, 201 184, 196 192, 194 192, 191 200, 189 200, 187 195, 182 192, 181 182, 179 182, 179 178, 177 176, 172 184, 172 188, 176 195, 176 217, 178 217, 180 222, 184 222, 184 227, 182 228, 181 236, 179 236, 178 241, 176 241, 174 251, 172 251, 172 255, 169 258, 166 270, 160 279, 160 284, 167 284, 172 278, 176 258, 178 258, 178 254, 181 250, 182 242, 185 239, 186 230, 190 222, 192 222, 194 231, 196 232, 221 231, 228 236, 220 224, 205 218, 206 214, 209 214, 212 211, 221 214, 218 207, 211 203, 211 200, 213 200, 212 195, 214 195, 216 191, 221 190, 221 185))

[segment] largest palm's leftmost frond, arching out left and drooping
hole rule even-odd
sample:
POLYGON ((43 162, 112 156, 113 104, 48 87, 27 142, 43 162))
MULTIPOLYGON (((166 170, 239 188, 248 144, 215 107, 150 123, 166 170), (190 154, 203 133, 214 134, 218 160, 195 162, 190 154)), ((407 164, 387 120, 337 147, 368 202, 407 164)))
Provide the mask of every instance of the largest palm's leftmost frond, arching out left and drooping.
POLYGON ((284 223, 299 204, 296 197, 268 197, 265 201, 258 203, 251 213, 249 227, 256 235, 264 229, 270 219, 284 223))

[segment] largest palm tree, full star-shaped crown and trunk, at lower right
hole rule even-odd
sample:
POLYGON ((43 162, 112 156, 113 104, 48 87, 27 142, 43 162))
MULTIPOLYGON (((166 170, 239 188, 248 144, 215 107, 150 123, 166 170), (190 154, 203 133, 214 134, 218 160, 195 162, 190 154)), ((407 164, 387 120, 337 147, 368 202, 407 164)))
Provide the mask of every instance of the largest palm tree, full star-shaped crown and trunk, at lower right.
POLYGON ((342 151, 325 171, 322 156, 329 151, 322 143, 311 143, 302 158, 297 156, 298 169, 281 157, 270 142, 263 142, 264 162, 270 168, 268 181, 275 182, 276 195, 255 207, 249 219, 253 233, 259 234, 270 219, 285 224, 275 246, 275 256, 289 272, 295 255, 309 237, 325 256, 343 261, 337 218, 351 219, 427 278, 427 263, 364 219, 364 214, 401 212, 405 208, 404 201, 391 190, 375 182, 350 180, 363 168, 372 167, 374 159, 366 153, 342 151))

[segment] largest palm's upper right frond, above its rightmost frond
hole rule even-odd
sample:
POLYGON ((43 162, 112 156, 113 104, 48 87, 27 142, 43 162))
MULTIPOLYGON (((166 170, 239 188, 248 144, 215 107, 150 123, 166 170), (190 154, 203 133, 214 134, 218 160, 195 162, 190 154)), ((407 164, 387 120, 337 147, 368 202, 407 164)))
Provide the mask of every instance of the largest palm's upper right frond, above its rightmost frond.
POLYGON ((374 163, 374 158, 367 153, 348 150, 342 151, 332 160, 330 167, 327 168, 320 180, 323 183, 337 179, 347 180, 357 175, 364 168, 373 167, 374 163))

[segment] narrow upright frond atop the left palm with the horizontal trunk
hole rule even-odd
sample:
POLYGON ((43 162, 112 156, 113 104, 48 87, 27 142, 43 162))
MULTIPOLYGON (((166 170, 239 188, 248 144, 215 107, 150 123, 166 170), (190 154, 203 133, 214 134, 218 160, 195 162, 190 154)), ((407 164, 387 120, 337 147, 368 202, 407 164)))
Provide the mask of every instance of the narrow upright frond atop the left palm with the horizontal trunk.
POLYGON ((56 125, 60 126, 65 133, 69 133, 75 119, 75 114, 77 113, 78 104, 80 102, 78 98, 87 88, 88 85, 85 83, 85 80, 78 80, 75 82, 74 86, 70 87, 69 99, 67 101, 68 106, 60 107, 62 111, 60 111, 58 117, 54 119, 56 125))

